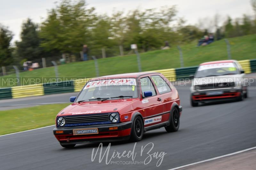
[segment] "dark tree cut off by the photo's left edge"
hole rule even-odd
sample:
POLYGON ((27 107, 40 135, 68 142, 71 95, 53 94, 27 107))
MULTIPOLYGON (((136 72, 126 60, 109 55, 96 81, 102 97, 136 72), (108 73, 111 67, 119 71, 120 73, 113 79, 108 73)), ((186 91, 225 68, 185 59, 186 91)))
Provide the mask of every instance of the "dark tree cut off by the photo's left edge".
POLYGON ((12 32, 7 27, 0 25, 0 66, 8 66, 12 63, 11 40, 12 32))

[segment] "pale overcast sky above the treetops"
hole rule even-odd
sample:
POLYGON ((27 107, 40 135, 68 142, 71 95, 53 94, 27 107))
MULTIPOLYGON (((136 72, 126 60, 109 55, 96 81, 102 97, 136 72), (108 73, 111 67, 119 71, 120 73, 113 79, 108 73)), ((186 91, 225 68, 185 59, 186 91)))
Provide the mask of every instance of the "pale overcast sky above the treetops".
MULTIPOLYGON (((21 24, 31 18, 42 22, 47 11, 60 0, 0 0, 0 24, 7 26, 14 34, 12 42, 20 40, 21 24)), ((187 24, 197 24, 198 20, 213 17, 216 13, 223 17, 253 15, 250 0, 87 0, 89 7, 95 7, 100 14, 111 15, 113 10, 128 12, 133 9, 160 8, 177 5, 178 16, 187 24)), ((224 19, 223 19, 224 20, 224 19)))

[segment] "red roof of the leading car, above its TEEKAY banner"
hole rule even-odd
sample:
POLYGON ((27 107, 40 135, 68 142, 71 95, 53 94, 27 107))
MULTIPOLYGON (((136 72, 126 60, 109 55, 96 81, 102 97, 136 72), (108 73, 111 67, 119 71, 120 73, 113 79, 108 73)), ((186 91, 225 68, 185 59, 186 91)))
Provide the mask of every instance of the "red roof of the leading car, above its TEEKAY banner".
POLYGON ((90 81, 97 81, 99 79, 105 80, 105 79, 120 79, 120 78, 137 78, 142 75, 148 75, 152 73, 157 72, 141 72, 141 73, 124 73, 124 74, 114 74, 114 75, 107 75, 107 76, 101 76, 91 79, 90 81))

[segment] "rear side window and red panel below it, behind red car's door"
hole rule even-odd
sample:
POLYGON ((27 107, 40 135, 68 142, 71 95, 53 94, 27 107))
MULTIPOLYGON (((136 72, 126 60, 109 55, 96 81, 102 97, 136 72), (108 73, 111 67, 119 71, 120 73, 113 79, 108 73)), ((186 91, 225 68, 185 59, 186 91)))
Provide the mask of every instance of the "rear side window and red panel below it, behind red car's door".
POLYGON ((156 89, 159 93, 159 98, 163 103, 163 112, 170 112, 172 105, 172 90, 170 86, 164 81, 163 77, 160 75, 150 76, 156 86, 156 89))

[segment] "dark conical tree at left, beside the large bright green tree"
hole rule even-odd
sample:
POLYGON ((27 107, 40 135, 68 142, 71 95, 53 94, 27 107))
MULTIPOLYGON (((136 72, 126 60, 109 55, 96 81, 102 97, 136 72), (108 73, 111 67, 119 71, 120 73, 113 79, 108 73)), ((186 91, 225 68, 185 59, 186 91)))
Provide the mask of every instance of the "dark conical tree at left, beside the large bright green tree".
POLYGON ((42 49, 39 47, 40 38, 37 28, 38 26, 29 18, 22 24, 21 41, 16 42, 19 57, 28 60, 42 58, 42 49))

